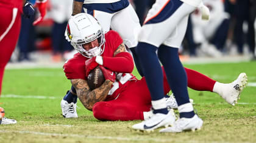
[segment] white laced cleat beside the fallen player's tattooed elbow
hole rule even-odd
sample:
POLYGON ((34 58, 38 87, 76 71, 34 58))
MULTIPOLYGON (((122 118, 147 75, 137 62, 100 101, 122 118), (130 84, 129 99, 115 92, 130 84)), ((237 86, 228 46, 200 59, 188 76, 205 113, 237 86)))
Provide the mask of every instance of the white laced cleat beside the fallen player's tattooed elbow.
POLYGON ((71 102, 68 104, 68 101, 62 99, 60 106, 62 107, 62 115, 64 118, 78 118, 76 113, 76 103, 71 102))

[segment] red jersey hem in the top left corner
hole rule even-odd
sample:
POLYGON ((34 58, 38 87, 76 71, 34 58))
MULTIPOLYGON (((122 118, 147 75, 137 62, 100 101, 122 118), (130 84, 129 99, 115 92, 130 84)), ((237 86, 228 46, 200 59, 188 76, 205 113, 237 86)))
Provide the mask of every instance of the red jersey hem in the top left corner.
POLYGON ((18 8, 23 13, 23 0, 0 0, 0 7, 18 8))

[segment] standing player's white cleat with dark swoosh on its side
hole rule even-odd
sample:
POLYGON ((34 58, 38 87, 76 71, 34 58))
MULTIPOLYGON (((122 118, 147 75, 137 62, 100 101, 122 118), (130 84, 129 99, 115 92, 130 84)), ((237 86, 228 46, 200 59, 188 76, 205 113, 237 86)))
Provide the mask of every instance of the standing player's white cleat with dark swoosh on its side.
POLYGON ((174 124, 175 120, 176 117, 174 111, 171 109, 167 115, 156 113, 148 120, 133 125, 132 128, 141 131, 154 131, 156 128, 168 127, 169 125, 174 124))

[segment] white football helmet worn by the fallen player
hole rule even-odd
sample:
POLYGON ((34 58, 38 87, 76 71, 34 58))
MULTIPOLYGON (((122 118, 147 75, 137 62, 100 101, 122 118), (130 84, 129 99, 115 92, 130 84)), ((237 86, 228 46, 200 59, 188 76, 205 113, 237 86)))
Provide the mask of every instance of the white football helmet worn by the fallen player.
POLYGON ((77 52, 87 58, 99 56, 104 52, 105 36, 102 27, 93 16, 87 13, 79 13, 72 16, 66 26, 65 35, 68 36, 71 45, 73 45, 77 52), (88 51, 83 48, 83 44, 87 44, 95 39, 98 39, 99 47, 91 48, 88 51))

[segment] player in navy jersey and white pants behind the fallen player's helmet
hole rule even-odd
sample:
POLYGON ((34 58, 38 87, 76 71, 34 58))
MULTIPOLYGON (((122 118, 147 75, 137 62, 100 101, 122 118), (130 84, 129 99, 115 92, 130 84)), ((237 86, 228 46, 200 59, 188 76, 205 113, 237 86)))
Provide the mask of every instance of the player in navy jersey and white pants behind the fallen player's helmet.
MULTIPOLYGON (((96 18, 104 33, 110 28, 119 33, 124 44, 132 52, 133 59, 141 76, 143 73, 137 62, 137 35, 141 30, 138 16, 128 0, 74 0, 73 15, 85 12, 96 18), (125 27, 125 28, 124 28, 125 27)), ((66 39, 67 36, 66 36, 66 39)))

